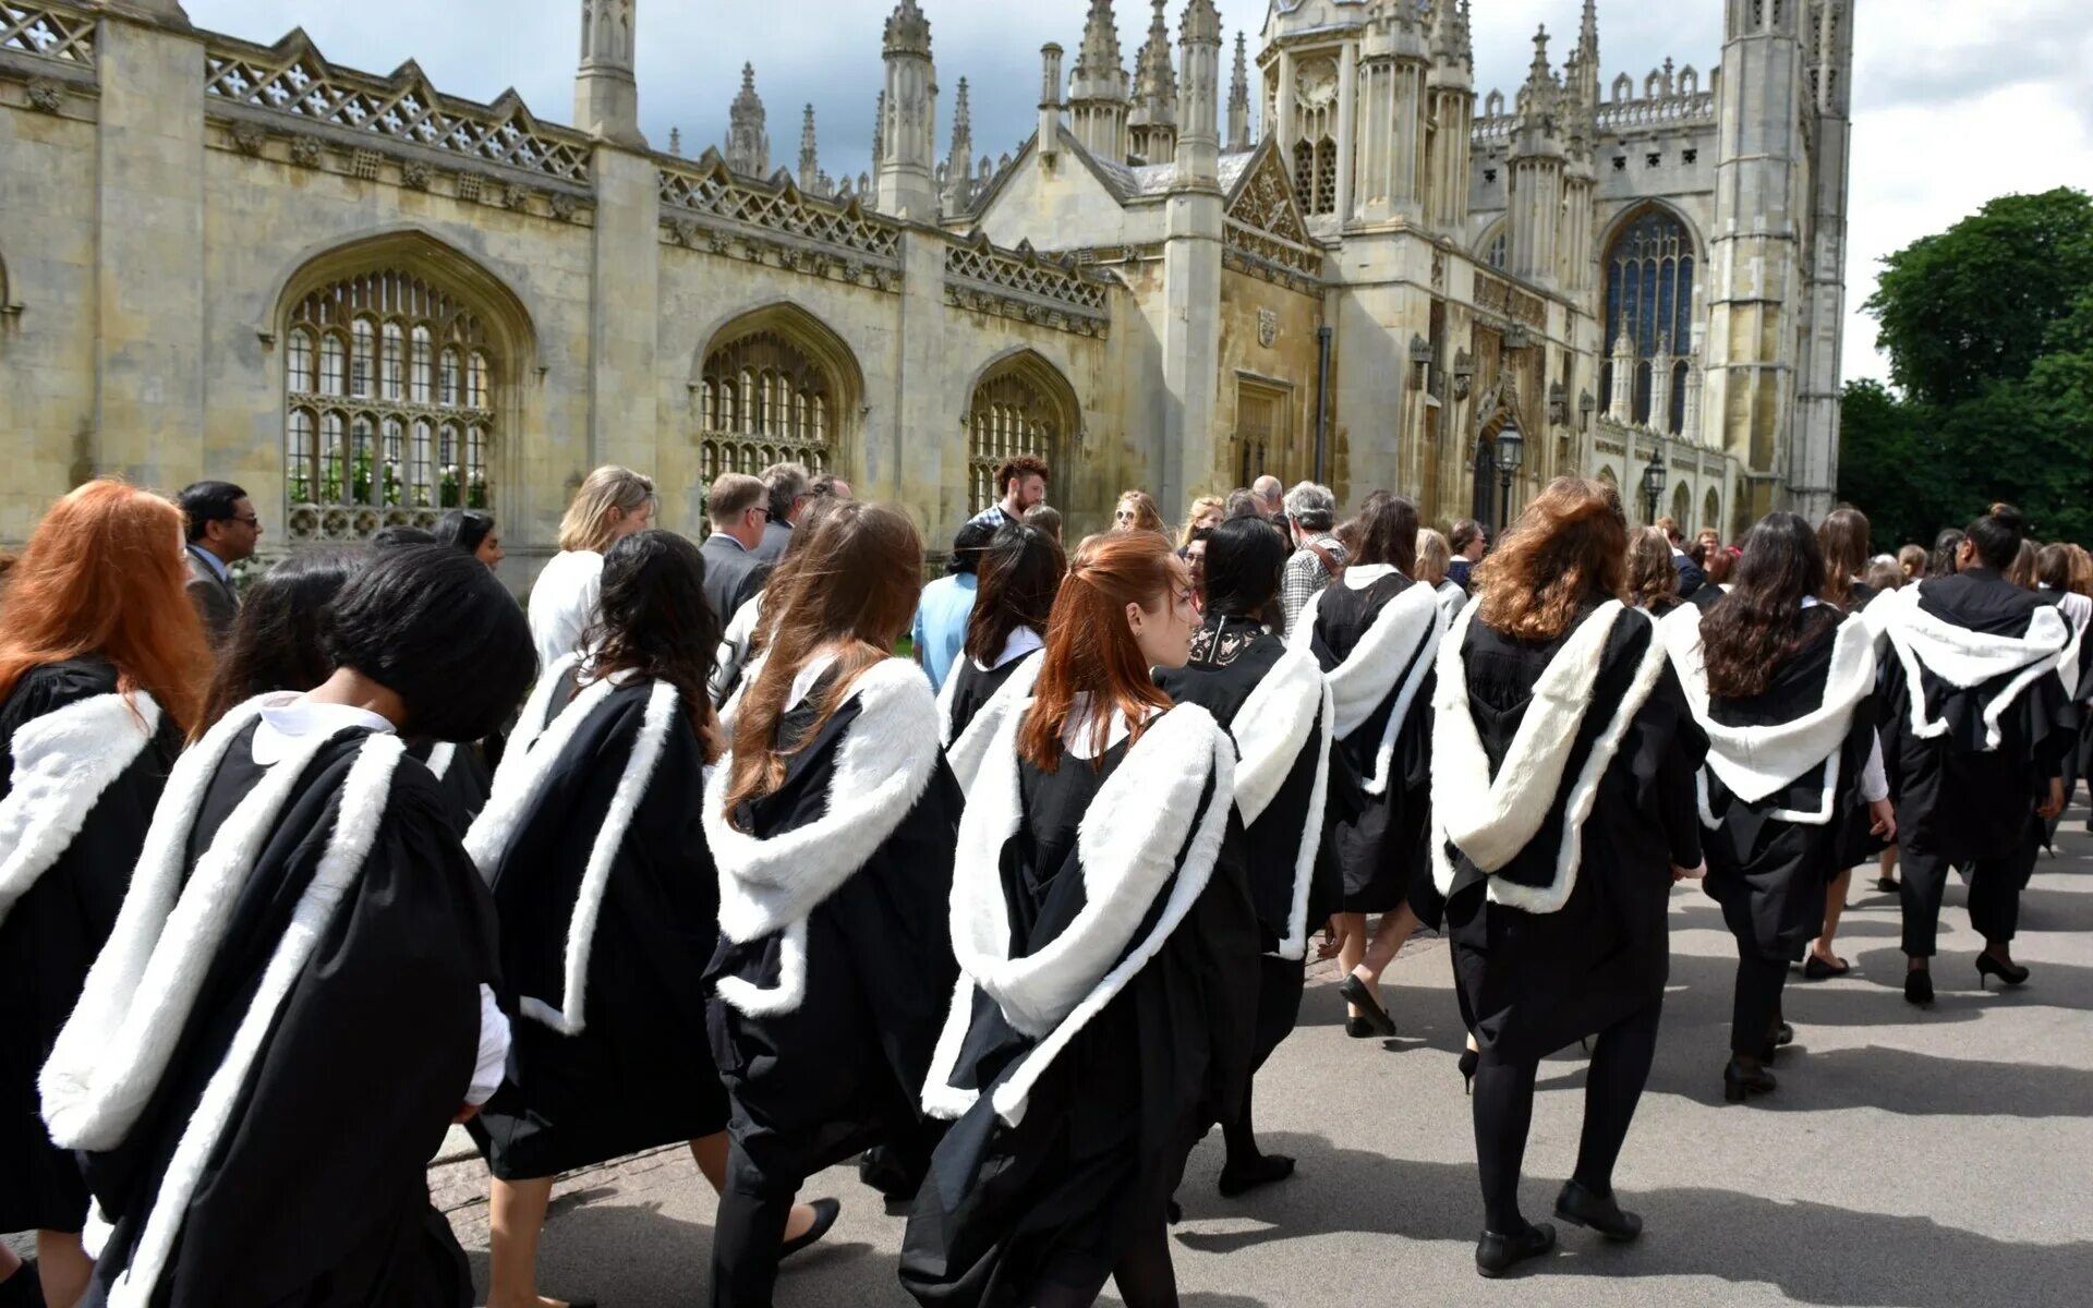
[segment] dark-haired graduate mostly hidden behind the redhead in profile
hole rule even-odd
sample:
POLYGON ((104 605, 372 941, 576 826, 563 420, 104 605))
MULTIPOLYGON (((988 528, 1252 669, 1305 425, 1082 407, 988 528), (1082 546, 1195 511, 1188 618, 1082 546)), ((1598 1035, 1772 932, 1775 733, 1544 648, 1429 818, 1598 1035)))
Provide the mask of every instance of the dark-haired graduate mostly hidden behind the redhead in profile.
POLYGON ((1003 718, 1032 695, 1065 571, 1061 542, 1023 523, 998 527, 982 550, 967 642, 938 691, 944 758, 961 789, 973 783, 1003 718))

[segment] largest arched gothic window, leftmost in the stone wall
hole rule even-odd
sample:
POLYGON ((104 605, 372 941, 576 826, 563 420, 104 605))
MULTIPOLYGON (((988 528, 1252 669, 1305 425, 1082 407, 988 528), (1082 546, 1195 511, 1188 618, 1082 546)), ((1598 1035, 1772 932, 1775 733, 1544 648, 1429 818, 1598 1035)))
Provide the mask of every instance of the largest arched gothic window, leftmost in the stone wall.
POLYGON ((291 540, 490 506, 494 343, 456 297, 398 270, 331 283, 291 310, 283 360, 291 540))

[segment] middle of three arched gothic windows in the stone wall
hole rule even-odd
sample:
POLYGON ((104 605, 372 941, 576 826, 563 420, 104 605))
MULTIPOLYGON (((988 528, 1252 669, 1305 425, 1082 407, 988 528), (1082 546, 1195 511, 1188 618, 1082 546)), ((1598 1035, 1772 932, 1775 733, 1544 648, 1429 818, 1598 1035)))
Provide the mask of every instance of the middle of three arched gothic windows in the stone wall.
POLYGON ((758 475, 772 463, 827 471, 835 456, 837 383, 812 354, 764 329, 705 356, 699 383, 699 475, 758 475))

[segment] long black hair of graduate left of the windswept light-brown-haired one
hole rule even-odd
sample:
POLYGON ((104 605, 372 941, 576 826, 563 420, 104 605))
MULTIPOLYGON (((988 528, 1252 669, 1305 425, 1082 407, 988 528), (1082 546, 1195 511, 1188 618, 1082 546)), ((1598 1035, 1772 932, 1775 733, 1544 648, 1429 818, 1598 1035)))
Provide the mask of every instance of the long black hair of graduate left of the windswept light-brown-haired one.
POLYGON ((705 678, 720 649, 720 617, 705 603, 705 555, 659 527, 634 532, 603 555, 597 619, 582 638, 590 672, 630 672, 676 686, 705 760, 720 756, 705 678))

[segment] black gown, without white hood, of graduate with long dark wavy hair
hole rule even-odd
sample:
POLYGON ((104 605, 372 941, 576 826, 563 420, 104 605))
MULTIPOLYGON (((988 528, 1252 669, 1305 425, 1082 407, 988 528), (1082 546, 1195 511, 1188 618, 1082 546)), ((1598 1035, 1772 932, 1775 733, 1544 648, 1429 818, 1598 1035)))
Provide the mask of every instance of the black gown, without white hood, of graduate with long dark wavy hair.
MULTIPOLYGON (((1762 693, 1710 697, 1714 722, 1781 726, 1817 712, 1825 701, 1836 636, 1846 622, 1863 619, 1842 617, 1827 605, 1802 609, 1796 615, 1802 647, 1775 668, 1762 693)), ((1873 743, 1875 699, 1867 695, 1854 705, 1852 726, 1838 753, 1838 785, 1827 822, 1779 816, 1815 814, 1825 806, 1825 764, 1808 768, 1756 804, 1731 793, 1712 768, 1704 772, 1708 814, 1714 816, 1714 827, 1702 831, 1706 892, 1723 906, 1723 921, 1748 956, 1792 963, 1823 931, 1825 887, 1848 866, 1842 862, 1842 845, 1854 825, 1867 831, 1861 772, 1873 743)))

